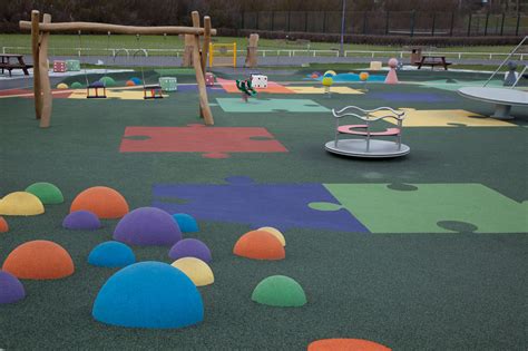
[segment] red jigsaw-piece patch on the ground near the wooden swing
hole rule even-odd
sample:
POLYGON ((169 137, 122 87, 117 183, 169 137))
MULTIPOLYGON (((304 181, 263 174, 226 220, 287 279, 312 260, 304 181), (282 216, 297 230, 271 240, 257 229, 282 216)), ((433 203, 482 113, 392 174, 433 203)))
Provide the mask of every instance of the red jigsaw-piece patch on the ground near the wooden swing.
POLYGON ((127 127, 121 153, 203 153, 208 158, 226 158, 229 153, 287 153, 260 127, 127 127))

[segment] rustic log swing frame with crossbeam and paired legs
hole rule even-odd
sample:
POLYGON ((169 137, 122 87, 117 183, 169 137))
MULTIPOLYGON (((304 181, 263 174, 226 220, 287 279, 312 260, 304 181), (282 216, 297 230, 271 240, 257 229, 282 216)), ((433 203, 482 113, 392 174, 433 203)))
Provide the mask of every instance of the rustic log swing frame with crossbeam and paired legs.
MULTIPOLYGON (((33 57, 33 94, 35 110, 37 119, 40 119, 40 127, 50 126, 52 95, 48 75, 48 46, 51 32, 65 31, 91 31, 113 32, 121 35, 190 35, 193 40, 193 66, 196 72, 196 81, 199 94, 199 116, 204 118, 206 125, 213 125, 213 114, 211 113, 205 87, 204 68, 207 62, 211 36, 216 35, 216 29, 211 27, 211 18, 204 17, 204 27, 201 27, 198 11, 192 13, 193 27, 133 27, 95 22, 58 22, 51 23, 51 16, 45 13, 40 22, 40 12, 31 11, 31 21, 20 21, 21 30, 31 30, 31 51, 33 57), (203 46, 201 50, 201 36, 203 46)), ((98 87, 100 88, 100 87, 98 87)), ((105 87, 102 86, 104 90, 105 87)), ((97 89, 96 89, 97 90, 97 89)))

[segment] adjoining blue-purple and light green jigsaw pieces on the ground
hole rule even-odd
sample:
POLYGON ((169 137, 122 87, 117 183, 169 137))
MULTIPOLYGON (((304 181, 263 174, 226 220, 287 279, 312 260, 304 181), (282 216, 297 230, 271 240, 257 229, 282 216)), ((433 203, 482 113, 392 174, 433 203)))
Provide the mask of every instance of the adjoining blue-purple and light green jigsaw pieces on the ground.
POLYGON ((356 233, 526 233, 528 202, 481 184, 159 184, 153 206, 198 220, 356 233), (170 202, 174 198, 175 202, 170 202), (185 203, 182 203, 182 199, 185 203), (176 202, 176 201, 179 201, 176 202))

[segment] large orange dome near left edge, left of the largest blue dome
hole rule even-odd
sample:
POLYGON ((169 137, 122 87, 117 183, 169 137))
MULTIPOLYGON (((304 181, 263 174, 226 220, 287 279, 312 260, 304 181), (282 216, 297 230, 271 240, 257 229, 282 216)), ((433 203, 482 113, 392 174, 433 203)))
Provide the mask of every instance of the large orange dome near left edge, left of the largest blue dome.
POLYGON ((2 270, 18 279, 52 280, 74 274, 74 261, 59 244, 36 240, 18 246, 3 262, 2 270))

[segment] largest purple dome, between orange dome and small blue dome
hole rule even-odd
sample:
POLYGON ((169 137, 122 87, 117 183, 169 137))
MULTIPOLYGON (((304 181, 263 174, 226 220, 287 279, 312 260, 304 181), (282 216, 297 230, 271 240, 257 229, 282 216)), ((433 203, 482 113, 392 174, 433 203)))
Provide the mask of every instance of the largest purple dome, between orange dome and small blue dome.
POLYGON ((182 231, 173 216, 156 207, 139 207, 126 214, 114 231, 114 238, 130 245, 174 245, 182 231))

